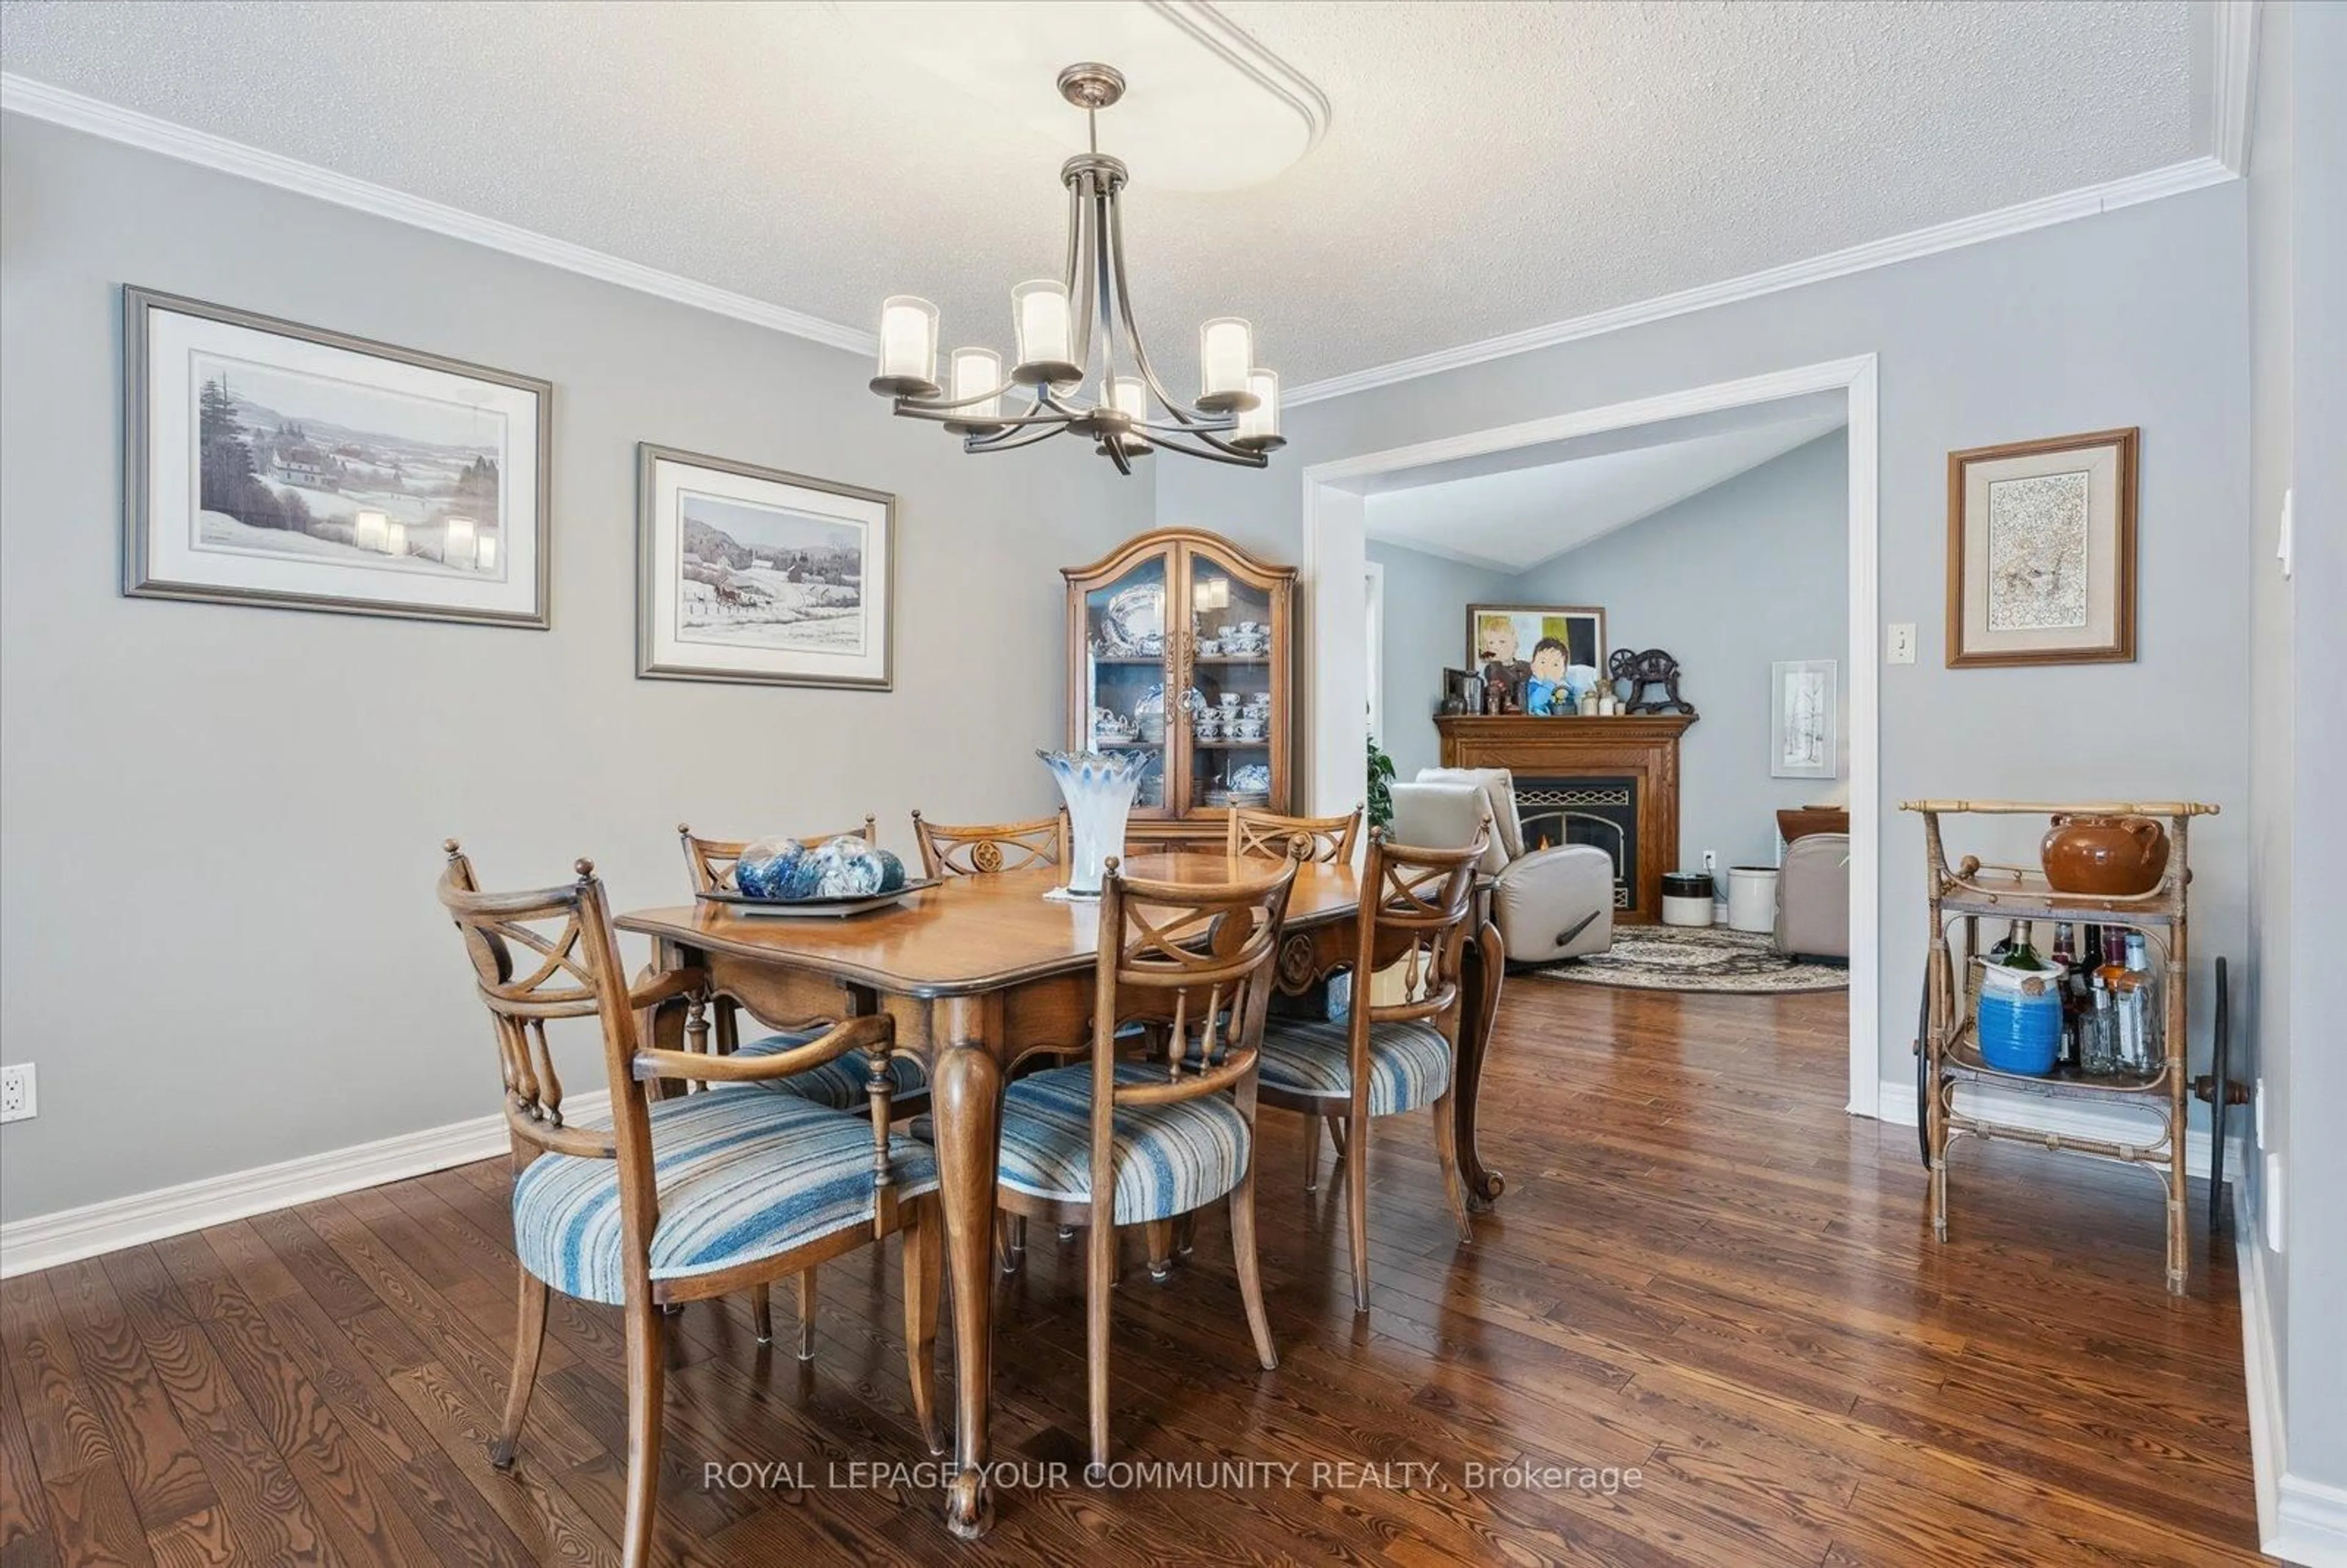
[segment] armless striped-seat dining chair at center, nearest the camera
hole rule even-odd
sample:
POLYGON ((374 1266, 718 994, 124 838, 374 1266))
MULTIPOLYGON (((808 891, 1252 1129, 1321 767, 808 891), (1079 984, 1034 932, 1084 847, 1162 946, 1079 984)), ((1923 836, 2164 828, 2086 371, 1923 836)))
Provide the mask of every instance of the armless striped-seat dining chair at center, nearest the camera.
POLYGON ((1279 1366, 1256 1268, 1256 1059, 1296 866, 1230 883, 1101 878, 1089 1061, 1002 1091, 997 1199, 1087 1230, 1091 1467, 1108 1465, 1108 1317, 1117 1228, 1230 1199, 1239 1298, 1265 1371, 1279 1366), (1120 1021, 1164 1028, 1152 1061, 1120 1056, 1120 1021))

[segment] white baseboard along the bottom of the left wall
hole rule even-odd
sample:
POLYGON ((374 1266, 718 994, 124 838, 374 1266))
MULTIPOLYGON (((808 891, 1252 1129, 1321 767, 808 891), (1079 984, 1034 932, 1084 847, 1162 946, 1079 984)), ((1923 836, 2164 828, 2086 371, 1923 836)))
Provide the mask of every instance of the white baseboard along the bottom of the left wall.
MULTIPOLYGON (((566 1120, 591 1122, 610 1113, 610 1094, 573 1094, 566 1120)), ((448 1127, 406 1131, 376 1143, 354 1143, 322 1155, 303 1155, 251 1171, 207 1176, 176 1188, 110 1197, 80 1209, 61 1209, 0 1225, 0 1279, 56 1268, 103 1251, 141 1246, 164 1237, 225 1225, 270 1209, 291 1209, 319 1197, 357 1192, 387 1181, 406 1181, 451 1164, 488 1160, 512 1148, 502 1115, 472 1117, 448 1127)))

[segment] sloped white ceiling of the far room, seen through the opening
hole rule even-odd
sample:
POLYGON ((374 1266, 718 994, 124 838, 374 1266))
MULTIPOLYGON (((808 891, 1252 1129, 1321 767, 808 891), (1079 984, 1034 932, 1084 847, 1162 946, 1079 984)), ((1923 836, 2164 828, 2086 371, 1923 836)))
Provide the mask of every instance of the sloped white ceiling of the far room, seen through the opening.
POLYGON ((1371 538, 1521 573, 1676 507, 1849 423, 1840 397, 1516 448, 1507 467, 1441 465, 1364 502, 1371 538))

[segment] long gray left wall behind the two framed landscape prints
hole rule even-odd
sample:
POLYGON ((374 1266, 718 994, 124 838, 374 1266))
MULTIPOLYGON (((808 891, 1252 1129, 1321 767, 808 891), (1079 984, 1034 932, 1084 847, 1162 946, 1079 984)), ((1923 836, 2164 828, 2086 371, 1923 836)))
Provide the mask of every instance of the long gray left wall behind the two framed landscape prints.
POLYGON ((1145 481, 967 458, 852 354, 21 117, 0 202, 0 1035, 40 1066, 7 1218, 495 1113, 444 836, 641 906, 683 892, 678 819, 878 812, 908 852, 913 805, 1051 803, 1056 568, 1145 528, 1145 481), (122 599, 124 282, 549 378, 554 629, 122 599), (636 441, 894 491, 897 690, 636 681, 636 441))

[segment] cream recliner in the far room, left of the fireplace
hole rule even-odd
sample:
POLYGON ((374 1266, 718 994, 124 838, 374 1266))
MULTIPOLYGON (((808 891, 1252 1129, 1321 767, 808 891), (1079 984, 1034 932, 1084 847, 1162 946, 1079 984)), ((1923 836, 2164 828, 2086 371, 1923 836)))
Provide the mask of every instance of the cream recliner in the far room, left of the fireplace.
POLYGON ((1523 852, 1516 782, 1507 768, 1422 768, 1394 784, 1394 840, 1457 847, 1490 817, 1483 876, 1490 920, 1511 965, 1544 965, 1612 946, 1612 857, 1594 845, 1523 852))

